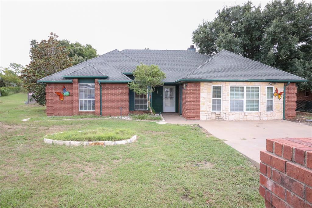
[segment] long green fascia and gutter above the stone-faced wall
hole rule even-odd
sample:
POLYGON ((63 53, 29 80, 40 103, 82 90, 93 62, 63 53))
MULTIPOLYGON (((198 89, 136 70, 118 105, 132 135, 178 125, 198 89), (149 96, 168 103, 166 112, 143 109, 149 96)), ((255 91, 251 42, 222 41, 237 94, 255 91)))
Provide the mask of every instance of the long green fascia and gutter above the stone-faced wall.
POLYGON ((273 80, 273 79, 179 79, 173 83, 182 82, 308 82, 308 80, 273 80))

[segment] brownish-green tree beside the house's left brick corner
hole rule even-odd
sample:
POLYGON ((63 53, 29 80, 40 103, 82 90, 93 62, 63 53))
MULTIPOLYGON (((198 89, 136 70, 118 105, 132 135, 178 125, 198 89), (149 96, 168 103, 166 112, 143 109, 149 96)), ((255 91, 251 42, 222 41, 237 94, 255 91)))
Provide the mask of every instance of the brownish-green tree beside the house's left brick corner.
POLYGON ((21 71, 24 87, 28 92, 33 92, 32 98, 40 105, 46 103, 45 85, 37 80, 59 72, 72 66, 69 52, 62 46, 55 33, 50 33, 49 39, 40 43, 32 40, 30 49, 30 64, 21 71))

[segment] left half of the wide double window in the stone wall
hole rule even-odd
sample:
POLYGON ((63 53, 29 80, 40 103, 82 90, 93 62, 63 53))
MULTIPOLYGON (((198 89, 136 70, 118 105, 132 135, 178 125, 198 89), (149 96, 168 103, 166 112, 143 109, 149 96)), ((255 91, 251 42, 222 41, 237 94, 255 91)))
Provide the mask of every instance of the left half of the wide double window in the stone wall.
POLYGON ((244 111, 244 87, 242 86, 230 87, 230 111, 231 112, 244 111))

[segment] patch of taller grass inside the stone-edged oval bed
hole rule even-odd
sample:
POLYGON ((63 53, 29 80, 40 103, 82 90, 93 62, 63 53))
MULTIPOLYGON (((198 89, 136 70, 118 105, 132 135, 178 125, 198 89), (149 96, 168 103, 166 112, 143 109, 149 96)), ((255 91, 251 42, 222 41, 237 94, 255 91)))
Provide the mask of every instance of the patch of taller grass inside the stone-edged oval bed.
POLYGON ((61 141, 119 141, 130 139, 134 136, 135 131, 131 129, 86 129, 80 131, 64 131, 48 134, 44 136, 47 139, 61 140, 61 141))

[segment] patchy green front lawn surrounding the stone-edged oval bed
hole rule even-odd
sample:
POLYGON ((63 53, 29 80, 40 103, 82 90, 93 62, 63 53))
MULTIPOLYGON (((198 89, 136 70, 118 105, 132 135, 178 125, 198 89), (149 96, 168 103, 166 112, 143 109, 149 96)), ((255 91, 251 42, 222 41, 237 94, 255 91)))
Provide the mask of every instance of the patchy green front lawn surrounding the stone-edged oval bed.
POLYGON ((1 97, 1 207, 264 207, 259 171, 198 126, 45 117, 26 94, 1 97), (117 146, 45 144, 46 134, 132 129, 117 146))

